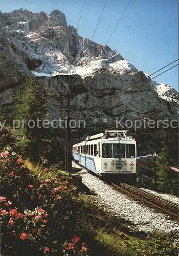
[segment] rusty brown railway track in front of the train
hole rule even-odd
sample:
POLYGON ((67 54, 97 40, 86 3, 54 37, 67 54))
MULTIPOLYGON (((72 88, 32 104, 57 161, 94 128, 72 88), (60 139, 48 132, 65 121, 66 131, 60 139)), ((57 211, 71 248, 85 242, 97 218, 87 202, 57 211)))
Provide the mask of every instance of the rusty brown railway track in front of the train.
POLYGON ((120 183, 120 185, 111 183, 111 185, 116 189, 122 191, 123 193, 128 194, 129 196, 134 197, 137 200, 152 206, 153 208, 158 208, 160 211, 164 212, 167 215, 170 215, 171 217, 179 221, 178 205, 173 204, 169 201, 163 200, 159 197, 153 196, 139 189, 138 187, 135 187, 126 183, 120 183))

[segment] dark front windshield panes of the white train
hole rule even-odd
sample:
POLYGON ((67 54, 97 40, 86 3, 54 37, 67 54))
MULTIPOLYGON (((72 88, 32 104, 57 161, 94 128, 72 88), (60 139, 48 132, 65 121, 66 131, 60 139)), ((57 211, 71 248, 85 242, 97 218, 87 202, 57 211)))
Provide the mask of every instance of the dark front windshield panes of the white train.
POLYGON ((102 144, 103 158, 135 158, 135 144, 102 144))

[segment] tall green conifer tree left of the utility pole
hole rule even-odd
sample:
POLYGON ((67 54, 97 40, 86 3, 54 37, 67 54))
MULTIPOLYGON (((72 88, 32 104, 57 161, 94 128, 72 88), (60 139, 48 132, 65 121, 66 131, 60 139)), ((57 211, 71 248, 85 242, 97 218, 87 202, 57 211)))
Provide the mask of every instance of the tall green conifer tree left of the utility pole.
POLYGON ((19 124, 15 131, 17 145, 21 147, 25 156, 29 155, 35 162, 40 159, 39 146, 43 128, 38 124, 44 114, 46 114, 46 92, 38 85, 37 78, 30 74, 21 83, 15 96, 14 118, 17 125, 19 124))

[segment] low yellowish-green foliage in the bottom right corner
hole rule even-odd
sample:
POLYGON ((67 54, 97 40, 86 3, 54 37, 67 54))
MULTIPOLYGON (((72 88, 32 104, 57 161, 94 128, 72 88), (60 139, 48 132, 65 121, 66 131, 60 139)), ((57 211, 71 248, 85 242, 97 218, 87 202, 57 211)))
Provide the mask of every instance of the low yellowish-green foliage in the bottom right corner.
POLYGON ((165 233, 155 232, 148 239, 131 238, 126 244, 139 256, 176 256, 178 247, 165 233))

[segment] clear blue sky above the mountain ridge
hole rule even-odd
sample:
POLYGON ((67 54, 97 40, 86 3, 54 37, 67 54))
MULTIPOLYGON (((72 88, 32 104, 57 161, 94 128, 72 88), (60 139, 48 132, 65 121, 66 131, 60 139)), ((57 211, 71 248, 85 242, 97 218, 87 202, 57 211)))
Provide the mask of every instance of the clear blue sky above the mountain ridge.
MULTIPOLYGON (((128 0, 108 0, 93 40, 106 44, 128 0)), ((66 15, 69 25, 77 28, 83 0, 0 1, 0 10, 9 12, 27 8, 32 12, 54 9, 66 15)), ((78 29, 82 37, 92 38, 105 0, 85 0, 78 29)), ((115 33, 108 42, 137 69, 151 74, 178 58, 177 0, 131 0, 115 33)), ((176 65, 175 62, 172 66, 176 65)), ((163 70, 165 71, 165 70, 163 70)), ((161 71, 161 72, 163 72, 161 71)), ((156 74, 157 75, 157 74, 156 74)), ((156 77, 178 90, 178 66, 156 77)))

